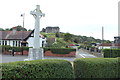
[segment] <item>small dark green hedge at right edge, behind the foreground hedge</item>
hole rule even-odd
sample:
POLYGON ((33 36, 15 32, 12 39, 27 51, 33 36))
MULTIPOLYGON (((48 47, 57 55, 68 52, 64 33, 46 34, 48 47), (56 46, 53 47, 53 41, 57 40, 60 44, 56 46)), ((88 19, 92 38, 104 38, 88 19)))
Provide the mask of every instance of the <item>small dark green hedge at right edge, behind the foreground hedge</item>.
POLYGON ((105 58, 120 57, 120 49, 103 49, 105 58))

